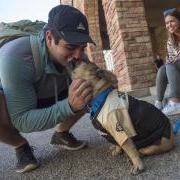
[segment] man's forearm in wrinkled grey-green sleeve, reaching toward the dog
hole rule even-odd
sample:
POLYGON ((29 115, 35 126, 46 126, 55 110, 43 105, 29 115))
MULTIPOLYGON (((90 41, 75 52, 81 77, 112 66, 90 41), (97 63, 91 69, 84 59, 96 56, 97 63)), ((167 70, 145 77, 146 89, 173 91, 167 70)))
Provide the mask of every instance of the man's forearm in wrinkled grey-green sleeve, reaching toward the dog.
POLYGON ((29 110, 12 119, 12 123, 19 131, 29 133, 53 128, 73 115, 65 99, 48 108, 29 110))

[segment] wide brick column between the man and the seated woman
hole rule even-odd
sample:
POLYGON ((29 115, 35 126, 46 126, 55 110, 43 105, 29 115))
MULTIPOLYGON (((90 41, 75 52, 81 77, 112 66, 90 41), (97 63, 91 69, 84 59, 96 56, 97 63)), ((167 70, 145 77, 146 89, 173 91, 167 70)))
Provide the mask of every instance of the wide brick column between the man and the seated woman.
POLYGON ((143 0, 103 0, 120 90, 154 85, 155 69, 143 0))

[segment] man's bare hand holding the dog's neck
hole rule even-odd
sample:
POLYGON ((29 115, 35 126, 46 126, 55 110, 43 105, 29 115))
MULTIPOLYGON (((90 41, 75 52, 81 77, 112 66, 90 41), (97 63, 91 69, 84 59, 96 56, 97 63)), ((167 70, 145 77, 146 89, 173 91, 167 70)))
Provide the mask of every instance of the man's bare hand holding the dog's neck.
POLYGON ((90 82, 83 79, 74 79, 69 87, 68 101, 73 112, 81 110, 93 97, 93 88, 90 82))

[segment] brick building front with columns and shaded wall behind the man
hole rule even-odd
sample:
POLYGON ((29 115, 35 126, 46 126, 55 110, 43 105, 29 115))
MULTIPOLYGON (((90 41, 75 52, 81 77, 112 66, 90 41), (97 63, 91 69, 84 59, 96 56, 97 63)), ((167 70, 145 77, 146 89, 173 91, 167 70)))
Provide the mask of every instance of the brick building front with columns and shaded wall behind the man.
POLYGON ((116 74, 119 90, 155 85, 156 55, 166 57, 163 11, 180 8, 179 0, 61 0, 80 9, 96 46, 88 45, 92 62, 116 74))

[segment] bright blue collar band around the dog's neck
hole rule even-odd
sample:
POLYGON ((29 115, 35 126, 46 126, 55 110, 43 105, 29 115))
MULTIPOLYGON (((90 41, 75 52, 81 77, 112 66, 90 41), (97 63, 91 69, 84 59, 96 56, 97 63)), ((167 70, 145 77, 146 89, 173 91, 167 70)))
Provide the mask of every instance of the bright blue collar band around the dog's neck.
POLYGON ((108 94, 114 89, 114 87, 110 86, 101 93, 97 94, 96 97, 90 103, 90 116, 91 120, 95 119, 103 106, 106 97, 108 94))

